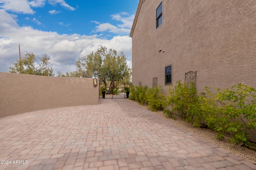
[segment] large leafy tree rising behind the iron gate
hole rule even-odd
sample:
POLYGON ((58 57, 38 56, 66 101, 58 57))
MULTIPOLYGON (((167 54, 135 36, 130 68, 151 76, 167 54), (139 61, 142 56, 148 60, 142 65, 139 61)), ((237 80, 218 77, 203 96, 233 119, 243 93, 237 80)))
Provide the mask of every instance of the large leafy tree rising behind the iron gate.
POLYGON ((110 81, 110 89, 115 87, 115 82, 130 79, 131 69, 126 63, 126 57, 122 51, 119 55, 114 49, 101 46, 96 52, 86 57, 80 57, 76 61, 76 68, 80 72, 87 72, 89 77, 97 77, 101 82, 110 81))

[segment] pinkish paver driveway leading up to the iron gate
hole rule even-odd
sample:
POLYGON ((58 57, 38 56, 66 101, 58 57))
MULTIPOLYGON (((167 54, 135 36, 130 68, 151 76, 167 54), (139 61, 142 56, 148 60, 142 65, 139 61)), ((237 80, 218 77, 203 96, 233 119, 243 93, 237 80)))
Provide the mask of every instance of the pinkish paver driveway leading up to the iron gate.
POLYGON ((33 111, 0 122, 0 170, 256 169, 127 99, 33 111))

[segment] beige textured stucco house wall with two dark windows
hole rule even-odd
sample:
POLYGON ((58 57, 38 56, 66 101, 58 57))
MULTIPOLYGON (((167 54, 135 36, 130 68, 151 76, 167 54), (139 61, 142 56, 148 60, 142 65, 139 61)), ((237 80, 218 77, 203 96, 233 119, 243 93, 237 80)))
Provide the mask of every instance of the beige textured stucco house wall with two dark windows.
POLYGON ((238 83, 256 88, 255 0, 140 0, 130 37, 134 85, 152 87, 157 77, 167 94, 165 66, 171 65, 173 84, 197 71, 199 92, 238 83))

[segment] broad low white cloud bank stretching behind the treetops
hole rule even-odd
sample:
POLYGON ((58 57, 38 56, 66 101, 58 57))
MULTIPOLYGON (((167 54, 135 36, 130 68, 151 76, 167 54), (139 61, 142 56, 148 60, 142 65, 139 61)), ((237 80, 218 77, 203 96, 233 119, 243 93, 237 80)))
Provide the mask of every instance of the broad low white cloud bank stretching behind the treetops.
POLYGON ((18 44, 22 54, 26 53, 25 51, 35 55, 47 54, 52 60, 54 72, 76 70, 75 61, 96 51, 101 45, 124 51, 128 63, 131 64, 132 39, 128 35, 116 36, 108 40, 100 39, 99 35, 60 35, 51 31, 39 31, 32 27, 18 26, 16 16, 4 10, 0 10, 0 23, 0 71, 2 72, 8 72, 8 67, 18 59, 18 44))

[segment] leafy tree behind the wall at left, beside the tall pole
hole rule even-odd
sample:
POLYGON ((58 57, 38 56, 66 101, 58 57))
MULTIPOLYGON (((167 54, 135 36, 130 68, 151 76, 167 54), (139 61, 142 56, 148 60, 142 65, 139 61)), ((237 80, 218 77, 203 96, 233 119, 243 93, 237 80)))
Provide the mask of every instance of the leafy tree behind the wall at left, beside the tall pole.
POLYGON ((26 53, 21 60, 16 60, 13 66, 9 67, 9 72, 19 74, 32 74, 41 76, 54 76, 53 69, 50 67, 50 57, 46 54, 38 58, 40 63, 36 63, 36 56, 34 53, 26 53))

